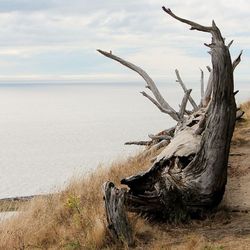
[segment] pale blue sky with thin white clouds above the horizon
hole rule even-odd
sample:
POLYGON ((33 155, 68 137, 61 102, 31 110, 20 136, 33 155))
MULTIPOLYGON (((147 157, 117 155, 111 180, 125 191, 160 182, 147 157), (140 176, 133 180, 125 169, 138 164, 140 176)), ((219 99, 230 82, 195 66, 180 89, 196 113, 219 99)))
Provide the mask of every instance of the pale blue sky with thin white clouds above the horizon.
MULTIPOLYGON (((250 1, 247 0, 0 0, 0 83, 137 81, 136 73, 96 52, 110 51, 145 69, 153 79, 198 81, 210 65, 210 35, 190 31, 161 7, 210 25, 214 19, 235 72, 248 81, 250 1)), ((206 72, 207 73, 207 72, 206 72)))

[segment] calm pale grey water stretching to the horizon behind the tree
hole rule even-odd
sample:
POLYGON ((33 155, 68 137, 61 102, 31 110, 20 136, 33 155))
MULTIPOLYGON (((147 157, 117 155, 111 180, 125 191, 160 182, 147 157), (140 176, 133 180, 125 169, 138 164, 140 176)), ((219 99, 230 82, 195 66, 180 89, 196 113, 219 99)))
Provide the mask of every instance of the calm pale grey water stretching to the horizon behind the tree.
MULTIPOLYGON (((182 92, 161 85, 177 107, 182 92)), ((0 198, 55 191, 174 122, 139 84, 0 85, 0 198)), ((198 96, 199 92, 194 92, 198 96)), ((243 91, 241 100, 250 97, 243 91)))

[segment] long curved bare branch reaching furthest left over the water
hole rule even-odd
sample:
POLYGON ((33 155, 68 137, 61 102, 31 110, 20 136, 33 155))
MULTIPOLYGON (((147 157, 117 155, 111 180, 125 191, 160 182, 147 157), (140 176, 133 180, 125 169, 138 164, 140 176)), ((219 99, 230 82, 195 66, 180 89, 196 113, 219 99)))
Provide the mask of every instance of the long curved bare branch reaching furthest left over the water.
MULTIPOLYGON (((119 63, 121 63, 122 65, 132 69, 133 71, 137 72, 147 83, 147 88, 149 88, 153 95, 155 96, 155 99, 157 100, 157 102, 160 104, 160 106, 164 109, 164 110, 169 110, 171 111, 171 117, 175 117, 174 119, 177 120, 177 117, 178 117, 178 113, 166 102, 166 100, 162 97, 160 91, 158 90, 158 88, 156 87, 154 81, 151 79, 151 77, 143 70, 141 69, 140 67, 118 57, 118 56, 115 56, 114 54, 112 53, 109 53, 109 52, 106 52, 106 51, 103 51, 103 50, 100 50, 98 49, 97 50, 99 53, 101 53, 102 55, 108 57, 108 58, 111 58, 119 63)), ((169 114, 169 113, 167 113, 169 114)))

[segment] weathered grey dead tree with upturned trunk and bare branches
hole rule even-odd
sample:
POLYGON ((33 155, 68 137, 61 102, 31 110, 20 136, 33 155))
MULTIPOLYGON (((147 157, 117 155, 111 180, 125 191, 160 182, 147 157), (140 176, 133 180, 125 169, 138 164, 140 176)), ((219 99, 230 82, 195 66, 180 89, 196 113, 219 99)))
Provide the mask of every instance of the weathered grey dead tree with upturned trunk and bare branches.
MULTIPOLYGON (((204 76, 201 73, 201 102, 192 99, 178 70, 177 82, 184 90, 179 111, 174 110, 162 97, 154 81, 138 66, 102 50, 101 54, 118 61, 143 77, 154 97, 142 92, 159 110, 177 121, 168 140, 152 166, 145 172, 121 180, 128 190, 117 189, 111 182, 103 187, 109 228, 114 237, 133 243, 132 232, 126 211, 137 212, 166 221, 185 221, 201 216, 216 208, 222 200, 227 183, 227 167, 230 142, 235 126, 236 105, 234 99, 233 71, 240 62, 240 55, 232 62, 228 45, 215 22, 212 26, 176 16, 163 7, 165 13, 188 24, 191 30, 210 33, 209 49, 212 69, 204 91, 204 76), (187 102, 193 110, 186 110, 187 102)), ((163 137, 164 137, 163 136, 163 137)), ((161 141, 162 142, 162 141, 161 141)))

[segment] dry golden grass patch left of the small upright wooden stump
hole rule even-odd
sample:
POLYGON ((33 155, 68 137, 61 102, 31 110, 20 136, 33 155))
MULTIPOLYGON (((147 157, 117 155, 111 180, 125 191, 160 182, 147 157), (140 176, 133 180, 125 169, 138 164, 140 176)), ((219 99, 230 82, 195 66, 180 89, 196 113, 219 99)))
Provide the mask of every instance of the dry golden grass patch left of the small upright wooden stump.
POLYGON ((106 232, 101 186, 117 185, 124 176, 145 169, 151 157, 133 157, 99 167, 82 180, 74 180, 59 194, 36 198, 20 215, 0 224, 0 249, 100 249, 110 246, 106 232))

